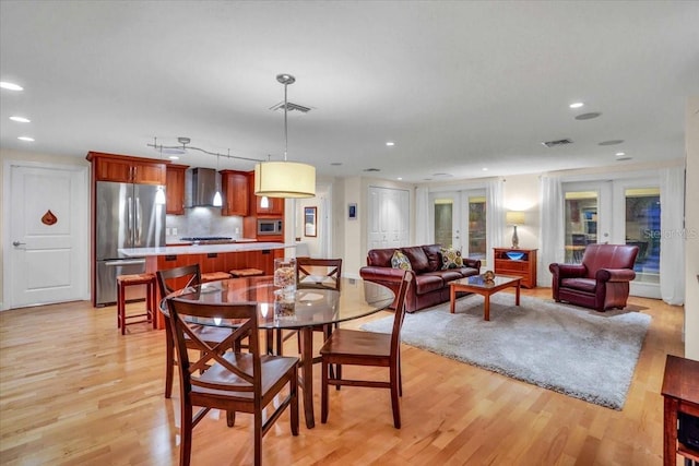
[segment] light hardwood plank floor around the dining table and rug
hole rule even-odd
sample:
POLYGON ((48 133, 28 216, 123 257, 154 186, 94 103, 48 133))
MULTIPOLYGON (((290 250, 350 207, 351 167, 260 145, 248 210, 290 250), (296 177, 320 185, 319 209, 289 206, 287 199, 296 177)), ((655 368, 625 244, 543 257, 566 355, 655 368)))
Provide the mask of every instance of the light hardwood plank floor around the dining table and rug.
MULTIPOLYGON (((524 294, 550 297, 546 288, 524 294)), ((662 464, 660 387, 665 355, 684 354, 684 310, 640 298, 630 304, 653 320, 623 410, 404 345, 401 430, 392 426, 388 391, 357 387, 331 391, 330 419, 321 425, 316 370, 316 428, 301 422, 294 438, 285 414, 263 440, 263 462, 662 464)), ((0 464, 177 464, 179 394, 176 382, 173 398, 163 397, 164 337, 145 324, 121 336, 116 309, 88 302, 0 312, 0 464)), ((250 418, 236 422, 229 429, 212 411, 194 429, 192 464, 250 464, 250 418)))

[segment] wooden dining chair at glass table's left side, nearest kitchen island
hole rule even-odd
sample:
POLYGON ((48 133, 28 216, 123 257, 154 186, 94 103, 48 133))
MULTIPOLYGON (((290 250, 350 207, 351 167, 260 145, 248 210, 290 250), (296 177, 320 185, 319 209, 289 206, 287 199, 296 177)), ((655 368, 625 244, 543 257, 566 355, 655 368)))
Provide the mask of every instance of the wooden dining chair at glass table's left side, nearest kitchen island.
MULTIPOLYGON (((185 265, 181 267, 157 271, 155 273, 157 285, 161 290, 161 298, 165 298, 170 292, 187 288, 189 286, 199 285, 201 283, 201 272, 199 264, 185 265)), ((230 335, 230 328, 218 328, 212 326, 200 325, 193 327, 200 339, 208 342, 210 345, 216 345, 230 335)), ((186 337, 188 338, 188 337, 186 337)), ((187 339, 188 340, 188 339, 187 339)), ((236 344, 240 344, 236 342, 236 344)), ((192 345, 192 347, 194 347, 192 345)), ((230 349, 230 348, 229 348, 230 349)), ((175 339, 173 330, 170 328, 169 318, 165 315, 165 397, 173 395, 173 379, 175 377, 175 367, 177 358, 175 357, 175 339)))

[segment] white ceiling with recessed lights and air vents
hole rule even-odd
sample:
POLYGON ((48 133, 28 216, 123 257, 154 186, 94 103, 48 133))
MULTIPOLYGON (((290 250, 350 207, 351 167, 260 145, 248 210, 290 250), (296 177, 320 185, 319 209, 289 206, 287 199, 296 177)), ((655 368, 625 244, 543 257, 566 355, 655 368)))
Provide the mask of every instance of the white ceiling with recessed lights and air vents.
POLYGON ((154 138, 188 136, 281 159, 284 117, 269 108, 284 98, 276 74, 291 73, 288 100, 312 110, 289 113, 288 159, 323 176, 377 168, 419 182, 676 159, 699 94, 698 25, 697 1, 2 0, 0 80, 24 91, 0 93, 0 146, 158 158, 154 138), (602 116, 573 118, 591 111, 602 116), (541 144, 564 138, 573 144, 541 144))

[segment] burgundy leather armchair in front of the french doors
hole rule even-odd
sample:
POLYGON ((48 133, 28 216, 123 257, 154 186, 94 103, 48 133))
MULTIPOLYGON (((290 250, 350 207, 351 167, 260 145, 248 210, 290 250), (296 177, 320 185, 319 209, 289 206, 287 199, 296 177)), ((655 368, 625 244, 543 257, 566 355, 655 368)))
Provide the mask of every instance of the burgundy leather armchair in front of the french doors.
POLYGON ((550 264, 556 302, 597 311, 626 307, 638 246, 588 244, 581 264, 550 264))

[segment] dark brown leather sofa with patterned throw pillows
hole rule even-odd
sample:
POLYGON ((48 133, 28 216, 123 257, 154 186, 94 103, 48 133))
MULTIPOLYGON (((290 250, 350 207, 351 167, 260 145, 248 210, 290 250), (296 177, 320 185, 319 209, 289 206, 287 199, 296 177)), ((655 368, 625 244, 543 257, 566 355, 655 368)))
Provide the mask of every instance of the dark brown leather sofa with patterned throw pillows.
MULTIPOLYGON (((411 261, 415 275, 407 295, 405 310, 414 312, 449 301, 449 282, 481 273, 481 261, 463 258, 463 267, 441 270, 440 244, 412 246, 406 248, 372 249, 367 253, 367 265, 359 270, 362 278, 387 286, 398 296, 403 270, 391 266, 395 250, 411 261)), ((465 292, 458 295, 463 296, 465 292)), ((395 302, 391 304, 395 309, 395 302)))

